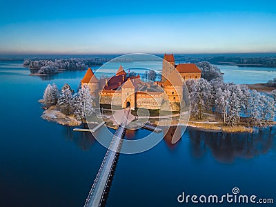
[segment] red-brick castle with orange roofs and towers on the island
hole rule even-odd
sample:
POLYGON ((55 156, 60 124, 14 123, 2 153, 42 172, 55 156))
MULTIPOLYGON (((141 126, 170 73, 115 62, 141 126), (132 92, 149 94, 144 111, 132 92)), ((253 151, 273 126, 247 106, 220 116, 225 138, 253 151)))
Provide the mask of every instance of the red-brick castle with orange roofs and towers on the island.
POLYGON ((176 65, 174 56, 165 54, 161 77, 161 81, 144 82, 139 74, 130 76, 120 66, 114 76, 97 79, 88 68, 81 86, 88 85, 99 104, 175 111, 180 109, 184 81, 199 79, 201 70, 195 64, 176 65))

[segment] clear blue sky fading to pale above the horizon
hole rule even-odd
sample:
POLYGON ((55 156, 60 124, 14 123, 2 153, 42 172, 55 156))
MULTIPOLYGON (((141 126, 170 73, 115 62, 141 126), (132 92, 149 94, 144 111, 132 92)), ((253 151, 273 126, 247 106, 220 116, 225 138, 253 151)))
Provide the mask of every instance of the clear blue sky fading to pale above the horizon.
POLYGON ((276 52, 276 1, 1 0, 0 54, 276 52))

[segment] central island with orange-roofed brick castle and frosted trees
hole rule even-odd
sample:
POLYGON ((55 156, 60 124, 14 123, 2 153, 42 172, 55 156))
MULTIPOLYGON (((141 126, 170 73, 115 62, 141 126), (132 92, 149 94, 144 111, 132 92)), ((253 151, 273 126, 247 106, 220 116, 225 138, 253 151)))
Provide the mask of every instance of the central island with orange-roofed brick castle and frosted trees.
POLYGON ((88 68, 77 92, 68 84, 61 90, 49 84, 41 100, 42 118, 68 126, 104 121, 117 128, 116 116, 130 108, 133 126, 146 121, 152 126, 253 132, 275 124, 275 91, 225 83, 219 68, 207 61, 177 64, 174 55, 165 54, 161 76, 153 70, 141 76, 119 66, 112 77, 98 79, 88 68), (150 81, 141 80, 149 74, 150 81))

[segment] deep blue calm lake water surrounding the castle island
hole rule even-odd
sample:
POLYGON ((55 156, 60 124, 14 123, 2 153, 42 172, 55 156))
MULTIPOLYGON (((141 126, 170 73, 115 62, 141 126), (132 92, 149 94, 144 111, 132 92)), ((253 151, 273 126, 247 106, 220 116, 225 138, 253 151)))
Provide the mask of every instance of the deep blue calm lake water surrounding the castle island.
MULTIPOLYGON (((0 62, 0 206, 83 206, 106 149, 89 133, 41 119, 37 100, 48 83, 77 89, 84 73, 41 79, 30 77, 21 62, 0 62)), ((242 81, 233 74, 232 81, 242 81)), ((148 133, 129 131, 126 137, 148 133)), ((120 155, 107 206, 189 206, 177 204, 182 191, 222 195, 235 186, 276 201, 275 133, 275 128, 253 135, 188 129, 175 145, 167 135, 147 152, 120 155)))

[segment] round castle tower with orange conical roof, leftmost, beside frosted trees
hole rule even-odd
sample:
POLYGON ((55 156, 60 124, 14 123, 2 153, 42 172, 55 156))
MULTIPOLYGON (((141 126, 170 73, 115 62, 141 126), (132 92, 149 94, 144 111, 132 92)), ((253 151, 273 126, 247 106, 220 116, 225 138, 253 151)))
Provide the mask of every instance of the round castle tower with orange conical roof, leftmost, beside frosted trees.
POLYGON ((88 68, 86 71, 86 75, 84 75, 83 79, 81 80, 81 87, 86 84, 89 89, 91 95, 94 97, 98 97, 99 95, 99 80, 95 77, 94 72, 91 68, 88 68))

